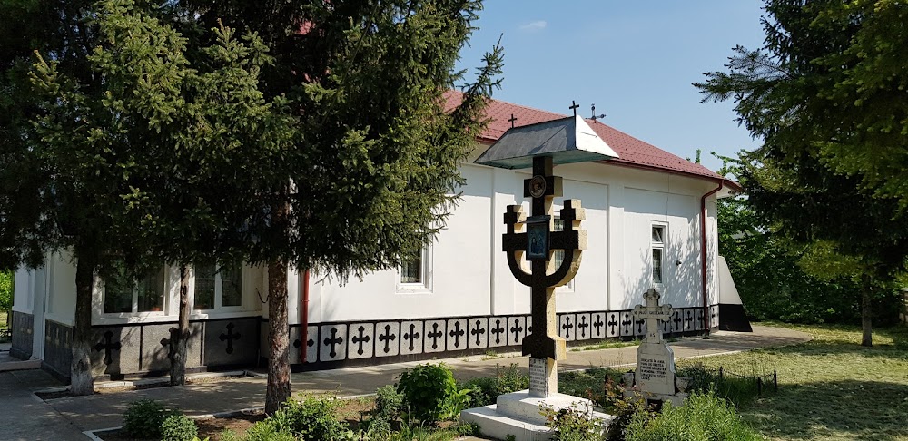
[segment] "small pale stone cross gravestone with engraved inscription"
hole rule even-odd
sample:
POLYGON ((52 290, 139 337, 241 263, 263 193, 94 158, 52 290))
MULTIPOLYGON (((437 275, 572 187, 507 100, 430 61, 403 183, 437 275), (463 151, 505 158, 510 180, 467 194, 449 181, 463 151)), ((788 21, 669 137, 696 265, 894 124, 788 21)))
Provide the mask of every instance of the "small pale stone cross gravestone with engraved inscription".
POLYGON ((626 394, 641 394, 647 402, 672 401, 680 406, 687 394, 675 377, 675 352, 662 336, 663 324, 672 318, 671 305, 659 305, 659 292, 650 288, 643 295, 644 305, 634 308, 634 319, 646 321, 646 337, 637 348, 637 369, 625 378, 626 394), (627 384, 633 381, 633 384, 627 384), (633 388, 630 388, 633 386, 633 388))

